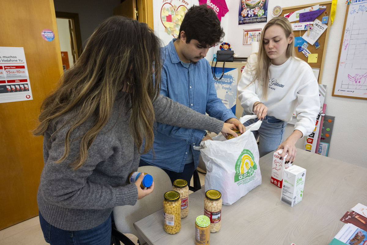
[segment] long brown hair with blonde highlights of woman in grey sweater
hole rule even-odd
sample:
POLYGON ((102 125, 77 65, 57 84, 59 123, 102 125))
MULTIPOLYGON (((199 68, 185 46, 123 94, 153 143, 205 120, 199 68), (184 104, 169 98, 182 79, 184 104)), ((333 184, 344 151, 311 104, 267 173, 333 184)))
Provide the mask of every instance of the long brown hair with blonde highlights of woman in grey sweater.
POLYGON ((70 141, 75 140, 73 131, 94 117, 93 125, 80 136, 79 155, 70 163, 73 169, 83 165, 121 90, 129 92, 124 106, 131 99, 129 128, 135 144, 140 149, 145 138, 143 153, 152 148, 155 122, 152 102, 160 91, 160 47, 160 39, 148 25, 125 17, 110 17, 95 29, 79 60, 61 77, 61 86, 43 101, 40 125, 33 131, 36 136, 44 135, 54 120, 72 112, 72 118, 58 129, 69 127, 65 151, 57 163, 69 156, 70 141))

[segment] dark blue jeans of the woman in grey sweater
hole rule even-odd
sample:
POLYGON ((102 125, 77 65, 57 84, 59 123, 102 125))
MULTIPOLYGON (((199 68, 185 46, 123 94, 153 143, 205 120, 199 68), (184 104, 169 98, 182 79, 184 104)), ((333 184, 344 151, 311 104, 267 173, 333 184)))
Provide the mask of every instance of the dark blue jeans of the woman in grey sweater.
POLYGON ((97 227, 67 231, 48 223, 39 212, 40 225, 43 236, 51 245, 110 245, 111 243, 111 215, 97 227))

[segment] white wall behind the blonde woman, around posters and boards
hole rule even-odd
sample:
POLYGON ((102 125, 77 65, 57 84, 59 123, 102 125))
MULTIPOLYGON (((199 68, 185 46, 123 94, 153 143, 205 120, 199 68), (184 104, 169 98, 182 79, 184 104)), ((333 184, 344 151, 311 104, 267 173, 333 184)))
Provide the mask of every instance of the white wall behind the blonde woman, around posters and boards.
MULTIPOLYGON (((268 4, 268 21, 273 18, 271 12, 276 5, 292 7, 301 4, 315 5, 320 1, 303 0, 270 0, 268 4)), ((224 42, 229 42, 232 49, 239 57, 248 57, 250 46, 243 46, 243 29, 263 28, 265 24, 238 25, 239 0, 226 0, 229 12, 222 17, 222 26, 226 36, 224 42)), ((360 99, 331 96, 334 84, 335 69, 337 66, 339 46, 344 25, 344 17, 347 5, 345 1, 338 1, 333 25, 329 28, 330 34, 325 57, 322 83, 327 85, 325 103, 326 114, 335 116, 333 134, 331 136, 330 158, 340 159, 345 162, 367 167, 367 101, 360 99)), ((207 54, 211 61, 213 53, 218 47, 213 47, 207 54), (211 58, 210 58, 211 57, 211 58)), ((286 136, 292 133, 293 125, 288 125, 286 136)), ((299 140, 297 147, 304 149, 304 138, 299 140)), ((297 160, 296 160, 297 161, 297 160)), ((322 163, 320 163, 322 164, 322 163)))

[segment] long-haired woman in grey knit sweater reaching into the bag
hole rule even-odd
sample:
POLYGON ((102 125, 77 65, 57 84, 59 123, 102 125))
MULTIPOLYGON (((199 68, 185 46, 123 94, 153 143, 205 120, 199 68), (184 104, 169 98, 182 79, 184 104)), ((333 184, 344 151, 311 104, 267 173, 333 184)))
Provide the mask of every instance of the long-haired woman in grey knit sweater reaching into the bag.
POLYGON ((128 175, 138 169, 142 145, 152 147, 155 121, 235 135, 234 125, 159 96, 160 71, 153 30, 114 16, 44 100, 34 134, 44 136, 37 202, 50 244, 110 244, 112 209, 153 191, 154 183, 139 187, 142 174, 132 184, 128 175))

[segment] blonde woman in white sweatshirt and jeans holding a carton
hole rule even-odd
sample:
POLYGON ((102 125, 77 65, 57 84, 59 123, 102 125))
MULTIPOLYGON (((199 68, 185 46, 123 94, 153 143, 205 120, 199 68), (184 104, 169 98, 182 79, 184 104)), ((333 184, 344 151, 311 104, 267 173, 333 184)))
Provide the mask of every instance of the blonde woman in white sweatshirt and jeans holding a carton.
POLYGON ((290 22, 284 17, 270 20, 261 33, 258 53, 248 57, 238 83, 243 114, 256 114, 258 118, 245 126, 262 120, 258 131, 259 153, 283 148, 286 162, 296 156, 295 143, 312 132, 320 109, 319 89, 311 67, 298 59, 294 52, 294 34, 290 22), (287 121, 294 109, 297 123, 293 133, 283 141, 287 121))

